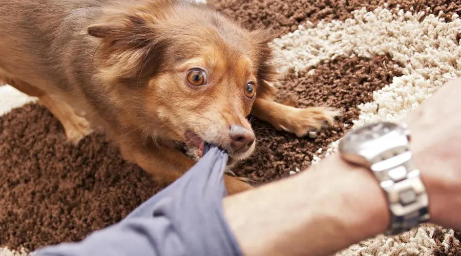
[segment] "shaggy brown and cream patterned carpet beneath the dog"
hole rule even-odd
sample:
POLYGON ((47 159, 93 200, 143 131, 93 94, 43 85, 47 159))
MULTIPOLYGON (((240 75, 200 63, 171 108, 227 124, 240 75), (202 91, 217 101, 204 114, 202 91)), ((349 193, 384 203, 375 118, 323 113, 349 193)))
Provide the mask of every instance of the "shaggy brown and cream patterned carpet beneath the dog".
MULTIPOLYGON (((354 126, 400 120, 461 75, 461 4, 451 1, 208 0, 207 5, 250 29, 272 26, 279 35, 273 47, 283 74, 280 98, 294 97, 299 107, 328 105, 344 112, 337 125, 316 138, 300 139, 253 121, 257 151, 237 175, 260 182, 317 163, 335 152, 354 126)), ((3 88, 0 256, 81 240, 121 220, 162 188, 124 162, 104 134, 69 145, 50 112, 3 88)), ((461 255, 460 239, 456 230, 422 225, 400 236, 368 239, 337 255, 461 255)))

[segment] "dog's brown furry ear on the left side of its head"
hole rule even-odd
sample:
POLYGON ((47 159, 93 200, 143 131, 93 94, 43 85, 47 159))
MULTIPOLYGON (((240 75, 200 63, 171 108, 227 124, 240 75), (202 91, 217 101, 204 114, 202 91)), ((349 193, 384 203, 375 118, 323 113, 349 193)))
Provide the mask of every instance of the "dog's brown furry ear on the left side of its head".
POLYGON ((139 81, 156 72, 165 44, 158 33, 160 19, 154 14, 139 9, 113 12, 87 28, 87 34, 101 42, 95 53, 99 77, 109 83, 139 81))

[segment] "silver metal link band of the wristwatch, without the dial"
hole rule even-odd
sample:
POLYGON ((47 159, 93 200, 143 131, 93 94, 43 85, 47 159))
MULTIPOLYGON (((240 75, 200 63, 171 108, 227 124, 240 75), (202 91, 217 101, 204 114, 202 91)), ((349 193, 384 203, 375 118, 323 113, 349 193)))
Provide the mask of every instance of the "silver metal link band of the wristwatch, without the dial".
POLYGON ((386 235, 399 234, 429 220, 428 196, 410 151, 372 164, 389 203, 386 235))

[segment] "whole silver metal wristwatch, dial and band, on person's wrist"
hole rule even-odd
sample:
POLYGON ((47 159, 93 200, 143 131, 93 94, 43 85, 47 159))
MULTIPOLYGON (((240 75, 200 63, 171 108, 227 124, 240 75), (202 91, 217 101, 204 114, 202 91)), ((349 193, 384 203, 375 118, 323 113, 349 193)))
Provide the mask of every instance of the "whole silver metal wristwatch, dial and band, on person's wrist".
POLYGON ((349 131, 339 143, 341 157, 371 170, 388 199, 387 235, 428 221, 428 196, 409 149, 405 124, 378 122, 349 131))

